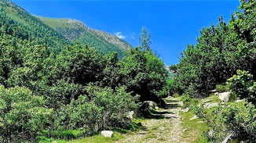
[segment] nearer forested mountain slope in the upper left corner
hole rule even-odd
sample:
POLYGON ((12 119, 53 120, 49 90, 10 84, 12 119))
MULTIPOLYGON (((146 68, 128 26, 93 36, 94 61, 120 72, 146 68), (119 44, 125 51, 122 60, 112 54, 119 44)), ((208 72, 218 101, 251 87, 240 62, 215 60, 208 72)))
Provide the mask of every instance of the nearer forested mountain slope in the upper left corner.
POLYGON ((56 30, 8 0, 0 1, 0 34, 16 47, 42 44, 51 52, 59 52, 64 45, 71 44, 56 30))

